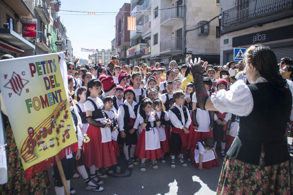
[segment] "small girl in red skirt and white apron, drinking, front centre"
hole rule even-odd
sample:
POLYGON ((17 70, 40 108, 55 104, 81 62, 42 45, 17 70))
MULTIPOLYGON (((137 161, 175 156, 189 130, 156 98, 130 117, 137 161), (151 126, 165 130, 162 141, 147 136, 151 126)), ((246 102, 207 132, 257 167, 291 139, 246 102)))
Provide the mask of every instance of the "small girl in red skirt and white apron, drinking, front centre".
POLYGON ((140 171, 144 172, 146 171, 146 159, 151 159, 151 167, 157 169, 158 166, 155 164, 155 160, 163 156, 159 133, 156 128, 161 123, 156 111, 153 110, 153 103, 149 98, 142 99, 139 114, 138 120, 142 127, 142 132, 139 135, 135 156, 142 159, 140 171))

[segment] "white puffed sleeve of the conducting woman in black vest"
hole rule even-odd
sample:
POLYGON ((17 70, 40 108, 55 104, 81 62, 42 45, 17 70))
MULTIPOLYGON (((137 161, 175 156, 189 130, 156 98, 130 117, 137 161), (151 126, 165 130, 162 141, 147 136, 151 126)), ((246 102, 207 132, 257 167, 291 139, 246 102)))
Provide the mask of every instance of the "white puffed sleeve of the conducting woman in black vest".
POLYGON ((238 116, 248 116, 253 109, 251 91, 243 80, 231 85, 229 91, 221 89, 217 95, 211 96, 214 107, 221 113, 228 112, 238 116))

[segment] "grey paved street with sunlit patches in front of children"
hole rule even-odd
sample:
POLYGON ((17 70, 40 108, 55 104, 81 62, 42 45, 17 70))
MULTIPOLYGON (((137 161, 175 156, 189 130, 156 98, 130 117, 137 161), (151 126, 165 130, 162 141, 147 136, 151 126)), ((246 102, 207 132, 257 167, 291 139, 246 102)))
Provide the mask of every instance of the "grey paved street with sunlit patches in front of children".
MULTIPOLYGON (((220 156, 220 153, 217 153, 220 156)), ((191 162, 183 168, 176 159, 176 168, 170 168, 171 158, 166 156, 166 163, 158 161, 159 169, 150 167, 146 162, 146 172, 140 172, 140 165, 135 166, 130 177, 105 179, 103 194, 215 194, 223 160, 219 158, 219 167, 210 170, 198 171, 191 162)), ((128 170, 127 170, 128 171, 128 170)), ((77 172, 77 170, 75 170, 77 172)), ((50 171, 51 173, 51 171, 50 171)), ((127 172, 129 173, 129 172, 127 172)), ((127 174, 125 174, 127 175, 127 174)), ((51 177, 51 174, 50 174, 51 177)), ((50 178, 52 179, 52 177, 50 178)), ((76 194, 97 194, 98 192, 85 191, 85 183, 80 178, 71 179, 71 186, 76 189, 76 194)), ((51 191, 55 194, 51 181, 51 191)))

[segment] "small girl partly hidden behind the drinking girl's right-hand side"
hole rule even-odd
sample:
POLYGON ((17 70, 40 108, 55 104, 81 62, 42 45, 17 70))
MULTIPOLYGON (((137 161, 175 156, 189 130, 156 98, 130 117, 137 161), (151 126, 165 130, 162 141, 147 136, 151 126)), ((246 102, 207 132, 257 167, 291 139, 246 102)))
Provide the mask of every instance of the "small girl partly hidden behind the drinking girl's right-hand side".
POLYGON ((153 108, 157 112, 157 115, 160 119, 161 125, 157 126, 159 132, 160 145, 163 152, 163 157, 161 158, 162 163, 166 163, 164 158, 164 153, 170 152, 170 132, 166 125, 170 124, 169 115, 166 111, 163 111, 163 103, 160 99, 153 101, 153 108))

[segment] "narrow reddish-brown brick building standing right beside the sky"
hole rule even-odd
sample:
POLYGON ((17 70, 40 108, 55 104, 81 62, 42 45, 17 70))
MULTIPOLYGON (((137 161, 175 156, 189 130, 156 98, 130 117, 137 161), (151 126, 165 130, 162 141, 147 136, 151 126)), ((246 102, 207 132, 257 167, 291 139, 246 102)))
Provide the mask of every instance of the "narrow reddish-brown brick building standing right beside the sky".
POLYGON ((130 11, 130 4, 125 3, 116 15, 115 48, 117 49, 118 60, 121 64, 128 63, 126 50, 130 46, 130 31, 127 30, 127 17, 130 16, 130 11))

